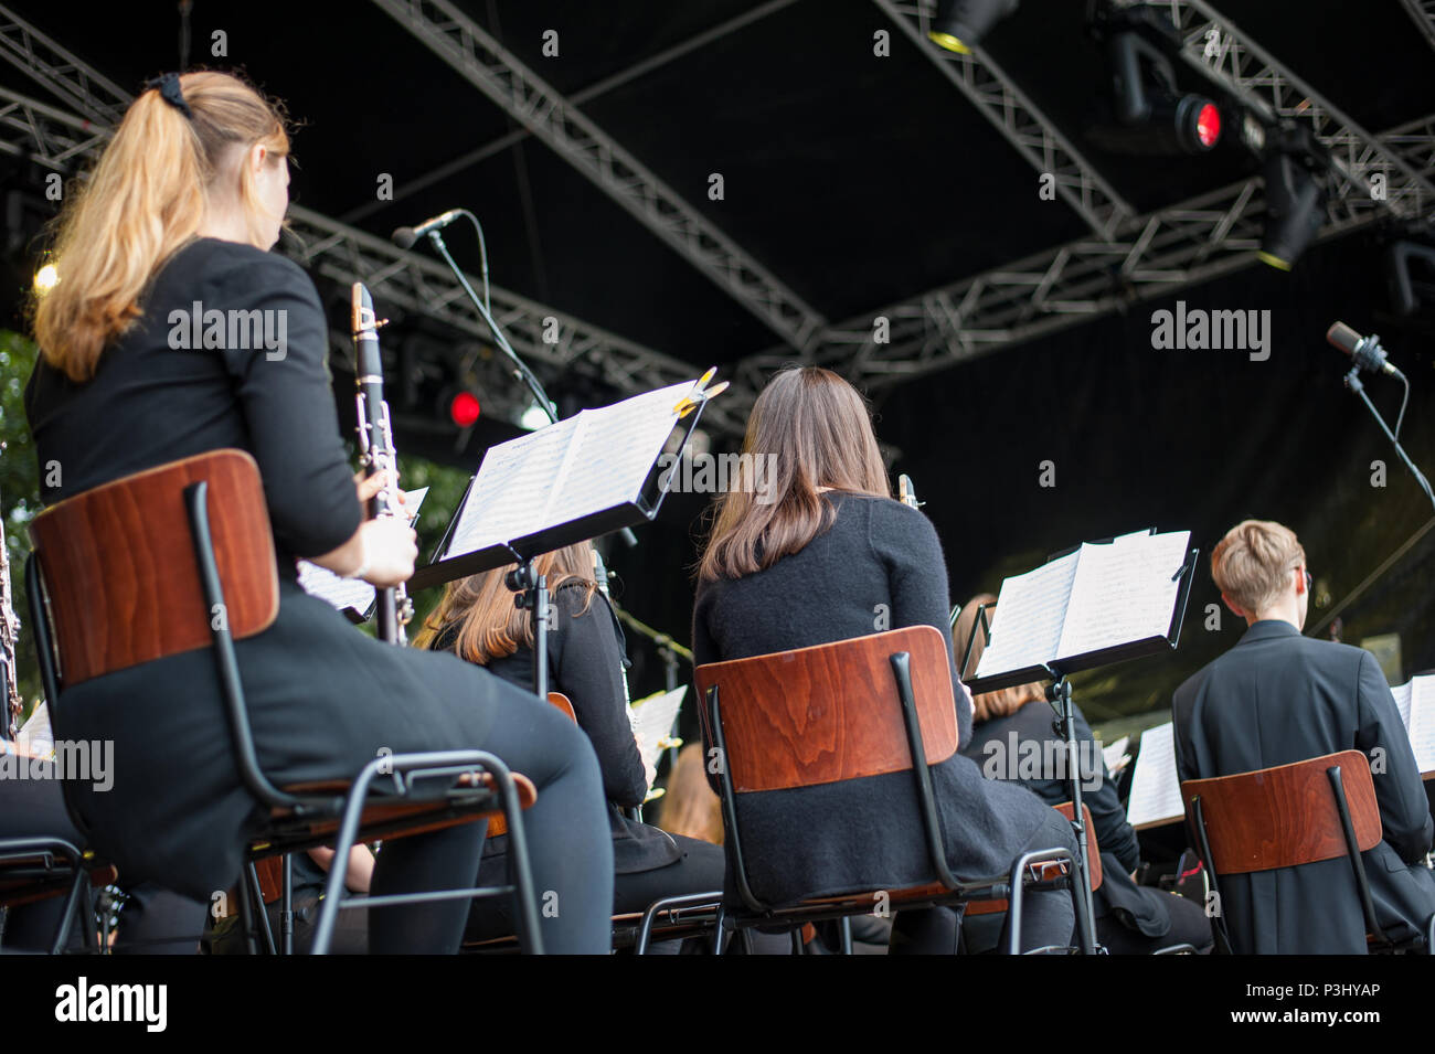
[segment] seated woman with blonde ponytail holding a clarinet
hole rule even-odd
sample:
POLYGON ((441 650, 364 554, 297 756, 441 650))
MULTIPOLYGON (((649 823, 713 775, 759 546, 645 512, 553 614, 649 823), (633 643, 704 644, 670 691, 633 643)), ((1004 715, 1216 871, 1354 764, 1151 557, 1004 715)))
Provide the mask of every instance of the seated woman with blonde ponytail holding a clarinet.
MULTIPOLYGON (((288 208, 283 112, 228 73, 165 75, 131 105, 57 218, 59 283, 33 307, 26 412, 46 502, 181 457, 254 455, 280 609, 235 644, 260 764, 280 784, 349 777, 379 751, 484 749, 538 784, 534 880, 563 911, 557 952, 610 944, 613 850, 587 739, 528 693, 452 655, 364 637, 297 584, 296 558, 377 587, 413 574, 413 532, 364 519, 380 480, 346 465, 313 283, 270 252, 288 208)), ((122 569, 121 569, 122 571, 122 569)), ((65 691, 65 734, 113 743, 113 787, 79 784, 96 849, 128 880, 208 901, 234 885, 258 817, 234 770, 208 650, 65 691)), ((397 839, 375 893, 462 888, 484 829, 397 839)), ((370 951, 458 948, 468 903, 370 912, 370 951)))

